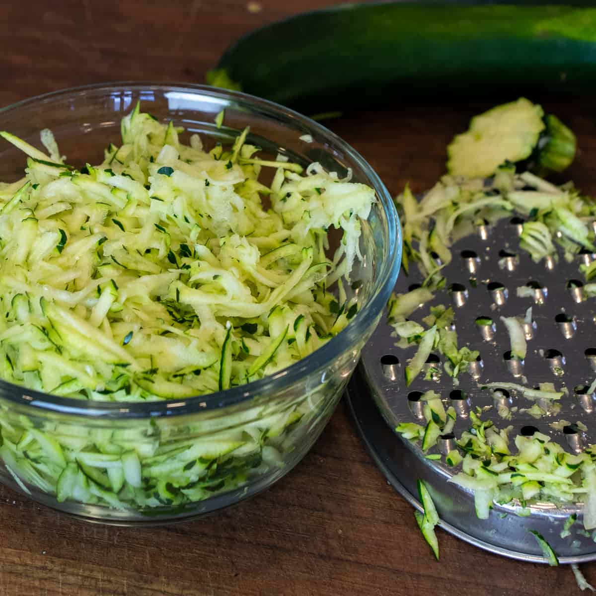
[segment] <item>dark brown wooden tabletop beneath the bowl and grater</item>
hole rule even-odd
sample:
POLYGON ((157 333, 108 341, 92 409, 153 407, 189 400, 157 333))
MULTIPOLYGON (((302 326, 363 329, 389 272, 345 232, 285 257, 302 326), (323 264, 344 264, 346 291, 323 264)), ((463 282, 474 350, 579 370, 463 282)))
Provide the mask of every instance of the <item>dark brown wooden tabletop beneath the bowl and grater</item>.
MULTIPOLYGON (((28 0, 2 2, 0 107, 110 80, 203 82, 254 27, 337 1, 28 0)), ((272 51, 275 51, 272 48, 272 51)), ((516 99, 512 90, 511 99, 516 99)), ((579 133, 570 176, 596 191, 591 98, 535 98, 579 133)), ((396 194, 443 173, 445 146, 477 111, 448 89, 419 104, 328 122, 396 194)), ((92 525, 0 488, 0 596, 579 594, 569 567, 519 563, 439 531, 440 562, 412 508, 387 485, 342 403, 311 453, 252 501, 170 527, 92 525)), ((596 582, 596 566, 583 566, 596 582)))

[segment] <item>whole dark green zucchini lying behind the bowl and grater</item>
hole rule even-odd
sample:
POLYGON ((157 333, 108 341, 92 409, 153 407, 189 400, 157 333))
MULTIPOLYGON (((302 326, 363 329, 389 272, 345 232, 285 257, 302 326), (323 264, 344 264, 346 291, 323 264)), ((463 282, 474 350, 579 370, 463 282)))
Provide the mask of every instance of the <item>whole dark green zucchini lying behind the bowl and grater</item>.
POLYGON ((319 111, 412 95, 448 101, 591 92, 594 6, 586 0, 340 5, 249 33, 207 80, 319 111))

